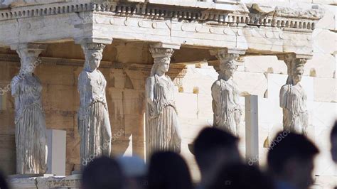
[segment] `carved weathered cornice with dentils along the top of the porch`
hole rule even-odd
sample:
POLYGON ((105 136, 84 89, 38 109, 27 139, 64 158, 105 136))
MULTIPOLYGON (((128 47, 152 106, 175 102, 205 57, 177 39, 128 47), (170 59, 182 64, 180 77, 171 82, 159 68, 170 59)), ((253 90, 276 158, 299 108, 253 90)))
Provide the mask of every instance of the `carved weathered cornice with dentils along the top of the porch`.
MULTIPOLYGON (((273 26, 279 28, 298 28, 309 31, 314 29, 314 23, 323 15, 322 9, 294 10, 289 7, 276 7, 272 13, 266 14, 220 9, 196 9, 193 7, 157 4, 134 4, 130 2, 70 2, 4 9, 0 11, 0 21, 84 11, 91 11, 93 13, 104 15, 138 17, 152 20, 171 19, 172 21, 203 21, 211 25, 273 26)), ((92 19, 92 17, 90 19, 92 19)), ((97 23, 95 18, 93 22, 97 23)))

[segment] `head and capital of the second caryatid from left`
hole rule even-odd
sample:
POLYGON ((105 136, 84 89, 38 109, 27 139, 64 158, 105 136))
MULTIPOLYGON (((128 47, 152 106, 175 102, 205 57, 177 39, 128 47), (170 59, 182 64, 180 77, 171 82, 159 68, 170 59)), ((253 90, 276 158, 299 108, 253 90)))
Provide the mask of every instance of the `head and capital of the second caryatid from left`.
POLYGON ((100 67, 102 60, 102 52, 105 45, 97 43, 88 43, 87 45, 82 45, 85 52, 85 70, 92 72, 100 67))

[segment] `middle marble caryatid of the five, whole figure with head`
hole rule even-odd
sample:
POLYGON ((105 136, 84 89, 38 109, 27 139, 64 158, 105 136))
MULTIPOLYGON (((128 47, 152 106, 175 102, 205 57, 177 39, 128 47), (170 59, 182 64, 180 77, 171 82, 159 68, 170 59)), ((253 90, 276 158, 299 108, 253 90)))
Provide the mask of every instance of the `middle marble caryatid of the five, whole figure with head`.
POLYGON ((150 48, 154 58, 146 79, 146 151, 181 151, 181 136, 174 102, 174 85, 169 71, 171 48, 150 48))

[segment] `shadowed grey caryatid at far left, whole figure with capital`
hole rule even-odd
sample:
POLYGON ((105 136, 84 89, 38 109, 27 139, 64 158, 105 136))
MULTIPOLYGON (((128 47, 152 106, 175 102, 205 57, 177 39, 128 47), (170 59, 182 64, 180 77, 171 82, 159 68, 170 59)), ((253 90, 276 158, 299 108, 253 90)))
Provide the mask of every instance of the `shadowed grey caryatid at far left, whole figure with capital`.
POLYGON ((11 81, 11 95, 15 98, 16 173, 46 173, 46 119, 42 108, 42 85, 33 74, 39 49, 19 45, 21 58, 18 75, 11 81))

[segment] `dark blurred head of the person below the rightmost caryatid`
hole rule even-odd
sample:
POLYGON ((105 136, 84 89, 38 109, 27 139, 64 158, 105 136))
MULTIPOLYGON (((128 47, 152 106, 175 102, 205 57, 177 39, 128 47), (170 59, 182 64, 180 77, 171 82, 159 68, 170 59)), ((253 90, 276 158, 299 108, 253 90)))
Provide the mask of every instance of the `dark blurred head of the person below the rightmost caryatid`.
POLYGON ((319 149, 306 136, 294 133, 279 132, 272 143, 267 161, 277 189, 309 188, 314 183, 314 157, 319 149))

